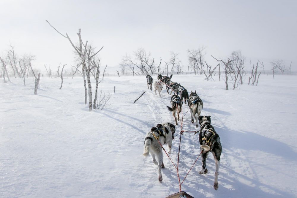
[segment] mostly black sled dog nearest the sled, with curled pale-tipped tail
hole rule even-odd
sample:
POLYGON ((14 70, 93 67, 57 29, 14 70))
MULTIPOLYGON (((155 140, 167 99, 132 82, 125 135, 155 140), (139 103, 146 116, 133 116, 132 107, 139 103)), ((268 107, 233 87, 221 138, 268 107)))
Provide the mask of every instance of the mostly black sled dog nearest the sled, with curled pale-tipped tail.
POLYGON ((214 127, 211 126, 210 116, 199 116, 199 143, 200 150, 202 152, 202 169, 200 170, 200 174, 206 174, 206 157, 208 152, 210 151, 214 155, 214 161, 216 162, 216 172, 214 173, 214 189, 217 190, 219 188, 218 177, 219 177, 219 166, 220 159, 222 153, 222 145, 220 141, 220 137, 217 132, 214 130, 214 127), (207 146, 205 146, 207 145, 207 146), (209 148, 210 150, 209 150, 209 148), (206 149, 208 148, 208 149, 206 149))

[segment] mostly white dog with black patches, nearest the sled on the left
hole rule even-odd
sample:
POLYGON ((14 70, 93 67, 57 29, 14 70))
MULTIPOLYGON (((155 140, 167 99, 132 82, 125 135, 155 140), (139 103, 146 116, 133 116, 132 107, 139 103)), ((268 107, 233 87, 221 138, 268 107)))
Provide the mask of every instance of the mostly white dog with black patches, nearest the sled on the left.
POLYGON ((162 145, 168 145, 168 153, 171 153, 172 140, 174 139, 175 126, 169 122, 157 124, 151 128, 151 131, 146 134, 144 139, 143 156, 148 156, 149 153, 153 158, 153 163, 158 166, 159 182, 162 182, 161 168, 165 168, 163 163, 162 145), (159 140, 159 142, 157 141, 159 140), (157 157, 157 160, 156 158, 157 157))

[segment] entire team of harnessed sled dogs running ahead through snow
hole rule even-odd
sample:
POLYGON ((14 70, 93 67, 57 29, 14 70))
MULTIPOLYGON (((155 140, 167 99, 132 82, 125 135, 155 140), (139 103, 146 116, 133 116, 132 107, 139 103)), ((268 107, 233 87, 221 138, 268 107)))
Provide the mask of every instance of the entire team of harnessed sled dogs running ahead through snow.
MULTIPOLYGON (((219 187, 218 184, 218 176, 219 176, 219 165, 220 165, 220 157, 222 153, 222 145, 220 142, 219 135, 215 131, 214 127, 211 125, 210 116, 200 116, 200 113, 203 109, 203 102, 200 97, 197 95, 196 91, 188 94, 187 89, 181 86, 180 83, 176 83, 171 81, 172 75, 162 76, 158 75, 158 80, 153 84, 153 78, 150 75, 146 75, 148 89, 152 90, 152 85, 154 87, 154 92, 160 92, 162 90, 163 85, 167 88, 167 93, 172 94, 173 96, 170 99, 171 107, 167 106, 168 110, 173 112, 173 117, 175 119, 175 124, 178 125, 177 121, 179 121, 179 113, 181 112, 181 106, 183 101, 185 104, 188 102, 189 110, 191 113, 191 122, 194 123, 194 118, 196 122, 196 127, 198 127, 198 123, 200 125, 199 130, 199 143, 200 143, 200 151, 202 151, 202 169, 200 170, 200 174, 206 174, 208 172, 206 168, 206 157, 209 152, 211 152, 214 156, 215 164, 216 164, 216 172, 214 174, 214 189, 217 190, 219 187), (149 88, 150 85, 150 88, 149 88), (169 93, 169 90, 171 92, 169 93), (179 96, 178 96, 179 95, 179 96)), ((157 95, 157 94, 156 94, 157 95)), ((165 168, 163 163, 163 153, 162 153, 162 145, 168 145, 168 153, 171 153, 171 145, 172 140, 174 139, 175 126, 172 123, 162 123, 157 124, 151 128, 151 131, 146 134, 144 139, 144 148, 143 148, 143 156, 148 156, 151 154, 153 159, 153 163, 158 166, 158 180, 162 182, 162 173, 161 169, 165 168), (159 143, 159 142, 160 143, 159 143)))

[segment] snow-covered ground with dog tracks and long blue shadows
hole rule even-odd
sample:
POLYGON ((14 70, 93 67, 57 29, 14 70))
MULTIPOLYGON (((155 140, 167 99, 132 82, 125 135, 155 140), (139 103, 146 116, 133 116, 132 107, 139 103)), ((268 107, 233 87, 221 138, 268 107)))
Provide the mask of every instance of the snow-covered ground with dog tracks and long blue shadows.
MULTIPOLYGON (((154 76, 156 79, 156 76, 154 76)), ((223 151, 219 189, 213 188, 215 163, 199 175, 201 159, 181 186, 194 197, 297 197, 297 78, 261 76, 258 86, 225 90, 224 81, 173 75, 203 100, 223 151)), ((105 77, 99 89, 111 105, 88 111, 82 78, 42 78, 0 83, 0 197, 166 197, 178 192, 176 171, 164 155, 163 183, 151 157, 143 158, 143 139, 152 126, 174 123, 170 96, 149 91, 146 78, 105 77), (135 103, 140 94, 146 93, 135 103)), ((93 85, 94 87, 94 85, 93 85)), ((188 110, 183 105, 183 113, 188 110)), ((180 124, 176 127, 180 131, 180 124)), ((188 113, 184 130, 197 128, 188 113)), ((181 140, 180 176, 200 153, 198 134, 181 140)), ((165 147, 167 148, 167 147, 165 147)), ((170 157, 177 161, 178 138, 170 157)))

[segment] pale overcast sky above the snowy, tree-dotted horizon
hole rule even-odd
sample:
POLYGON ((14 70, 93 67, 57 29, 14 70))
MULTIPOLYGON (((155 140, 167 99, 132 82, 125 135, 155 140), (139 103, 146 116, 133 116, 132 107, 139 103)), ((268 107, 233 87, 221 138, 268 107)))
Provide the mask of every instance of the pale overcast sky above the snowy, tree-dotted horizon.
MULTIPOLYGON (((101 48, 102 64, 118 66, 125 54, 139 47, 157 59, 168 61, 170 51, 179 53, 187 67, 187 49, 206 47, 211 55, 224 58, 233 50, 253 62, 283 59, 297 70, 297 1, 0 1, 0 55, 11 43, 20 56, 36 56, 34 66, 54 68, 72 64, 73 49, 61 33, 78 42, 101 48)), ((163 62, 164 63, 164 62, 163 62)))

